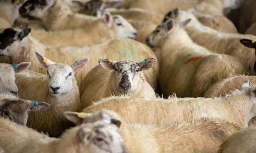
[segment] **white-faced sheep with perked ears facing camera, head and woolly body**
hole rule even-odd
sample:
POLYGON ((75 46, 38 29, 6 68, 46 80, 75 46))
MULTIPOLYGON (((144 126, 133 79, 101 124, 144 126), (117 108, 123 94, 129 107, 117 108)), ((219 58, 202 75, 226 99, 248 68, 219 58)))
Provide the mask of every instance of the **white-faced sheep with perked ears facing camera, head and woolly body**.
POLYGON ((78 60, 70 65, 54 63, 35 52, 42 66, 47 68, 47 76, 29 71, 16 74, 19 97, 35 101, 47 101, 51 107, 46 111, 33 112, 28 118, 28 127, 50 136, 60 136, 71 125, 63 116, 63 111, 81 109, 79 90, 74 73, 84 68, 89 58, 78 60))

